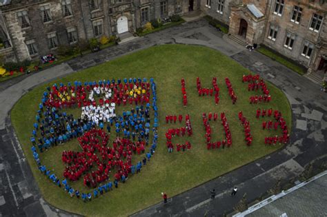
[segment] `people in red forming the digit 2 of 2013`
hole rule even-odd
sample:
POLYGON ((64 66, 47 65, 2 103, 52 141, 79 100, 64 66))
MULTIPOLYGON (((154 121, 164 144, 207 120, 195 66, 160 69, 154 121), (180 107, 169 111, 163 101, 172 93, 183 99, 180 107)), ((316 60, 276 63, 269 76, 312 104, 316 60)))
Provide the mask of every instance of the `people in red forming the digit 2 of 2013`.
MULTIPOLYGON (((181 123, 183 119, 183 116, 180 114, 179 115, 179 123, 181 123)), ((174 123, 176 123, 177 120, 177 116, 176 115, 167 115, 166 116, 166 123, 172 123, 172 121, 174 121, 174 123)), ((186 126, 185 127, 177 127, 177 128, 170 128, 168 129, 168 131, 166 132, 166 145, 168 147, 168 152, 172 152, 172 150, 174 149, 174 145, 172 145, 172 137, 175 136, 185 136, 185 134, 188 134, 188 136, 192 136, 192 126, 190 123, 190 116, 188 114, 186 114, 185 116, 185 121, 186 121, 186 126)), ((185 149, 190 149, 191 148, 191 144, 190 142, 186 142, 185 144, 179 145, 177 144, 177 152, 179 152, 181 149, 183 151, 185 151, 185 149)))

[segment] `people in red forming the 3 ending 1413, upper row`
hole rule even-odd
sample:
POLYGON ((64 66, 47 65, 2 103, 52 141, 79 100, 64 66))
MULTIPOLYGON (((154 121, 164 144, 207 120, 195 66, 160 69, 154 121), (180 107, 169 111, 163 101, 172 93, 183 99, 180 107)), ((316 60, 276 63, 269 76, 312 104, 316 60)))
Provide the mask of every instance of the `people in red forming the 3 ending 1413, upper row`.
POLYGON ((264 82, 264 79, 261 79, 259 74, 252 75, 243 75, 242 78, 243 83, 248 83, 248 91, 258 91, 261 90, 263 92, 263 95, 255 95, 255 96, 250 96, 250 103, 251 104, 257 104, 257 103, 262 103, 262 102, 270 102, 271 101, 271 96, 269 94, 269 90, 266 86, 266 83, 264 82))

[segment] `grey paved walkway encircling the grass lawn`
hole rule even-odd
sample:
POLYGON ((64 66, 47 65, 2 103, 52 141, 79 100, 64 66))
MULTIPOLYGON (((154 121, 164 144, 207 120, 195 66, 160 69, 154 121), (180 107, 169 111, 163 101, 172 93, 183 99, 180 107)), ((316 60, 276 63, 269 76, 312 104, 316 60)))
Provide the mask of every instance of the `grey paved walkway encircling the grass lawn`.
POLYGON ((319 91, 319 86, 266 56, 249 52, 239 45, 232 44, 223 37, 221 32, 208 26, 206 21, 194 21, 73 59, 32 74, 26 79, 17 79, 18 83, 13 81, 0 83, 0 145, 3 147, 0 149, 0 181, 2 183, 0 216, 67 215, 47 205, 42 200, 37 186, 30 185, 34 183, 34 178, 8 118, 14 103, 39 83, 48 82, 59 76, 65 76, 153 45, 167 43, 204 45, 219 50, 281 88, 292 105, 293 134, 290 145, 281 151, 170 198, 170 203, 166 205, 159 203, 140 211, 135 216, 204 216, 204 214, 220 216, 224 212, 232 211, 232 207, 244 193, 247 193, 248 200, 254 200, 270 189, 278 178, 283 180, 293 178, 304 170, 305 165, 316 158, 326 156, 327 95, 319 91), (230 189, 234 185, 237 185, 239 192, 237 196, 231 198, 230 189), (209 191, 214 187, 219 193, 215 200, 208 200, 209 191))

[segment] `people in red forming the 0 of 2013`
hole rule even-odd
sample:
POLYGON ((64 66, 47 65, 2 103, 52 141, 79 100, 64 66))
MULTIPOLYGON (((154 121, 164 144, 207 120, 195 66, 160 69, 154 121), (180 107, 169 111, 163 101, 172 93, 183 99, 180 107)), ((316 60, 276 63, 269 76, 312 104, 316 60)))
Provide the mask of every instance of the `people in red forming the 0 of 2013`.
MULTIPOLYGON (((221 118, 221 124, 224 126, 226 138, 224 138, 222 141, 211 142, 211 133, 212 132, 211 132, 211 127, 210 127, 210 123, 209 123, 209 121, 211 121, 210 114, 212 117, 212 113, 209 113, 208 118, 207 118, 206 113, 202 114, 202 120, 204 123, 204 128, 206 130, 207 149, 215 149, 216 147, 219 148, 221 145, 223 148, 225 148, 226 145, 227 145, 227 147, 230 147, 232 145, 232 135, 230 134, 229 125, 228 125, 226 115, 224 112, 222 112, 220 114, 220 118, 221 118)), ((213 114, 213 121, 217 120, 217 116, 218 116, 217 113, 213 114)))

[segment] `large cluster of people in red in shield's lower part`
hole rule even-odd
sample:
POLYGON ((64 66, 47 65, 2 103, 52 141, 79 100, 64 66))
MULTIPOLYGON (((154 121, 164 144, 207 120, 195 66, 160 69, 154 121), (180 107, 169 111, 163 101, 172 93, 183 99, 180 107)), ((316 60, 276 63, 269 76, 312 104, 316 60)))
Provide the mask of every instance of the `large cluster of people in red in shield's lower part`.
POLYGON ((112 147, 108 147, 109 136, 103 130, 92 129, 78 138, 83 152, 63 151, 62 161, 68 166, 63 176, 76 181, 83 174, 84 185, 96 187, 97 184, 108 180, 113 169, 116 169, 115 178, 127 178, 132 166, 132 152, 144 152, 144 142, 133 143, 127 138, 116 138, 112 147), (96 154, 99 154, 99 156, 96 154), (123 159, 126 159, 123 162, 123 159), (97 167, 97 169, 92 169, 97 167), (92 172, 91 172, 92 169, 92 172))

